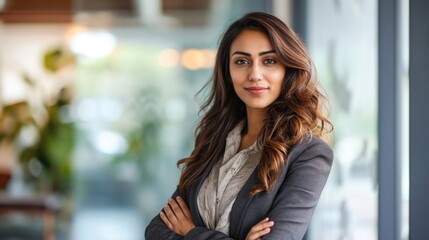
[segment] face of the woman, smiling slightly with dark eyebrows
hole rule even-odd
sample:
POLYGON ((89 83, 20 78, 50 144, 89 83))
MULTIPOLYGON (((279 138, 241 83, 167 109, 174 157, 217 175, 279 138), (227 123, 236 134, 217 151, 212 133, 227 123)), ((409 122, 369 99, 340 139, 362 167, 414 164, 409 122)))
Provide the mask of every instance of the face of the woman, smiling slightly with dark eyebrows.
POLYGON ((229 57, 234 90, 248 111, 266 109, 280 96, 286 67, 267 35, 244 30, 232 42, 229 57))

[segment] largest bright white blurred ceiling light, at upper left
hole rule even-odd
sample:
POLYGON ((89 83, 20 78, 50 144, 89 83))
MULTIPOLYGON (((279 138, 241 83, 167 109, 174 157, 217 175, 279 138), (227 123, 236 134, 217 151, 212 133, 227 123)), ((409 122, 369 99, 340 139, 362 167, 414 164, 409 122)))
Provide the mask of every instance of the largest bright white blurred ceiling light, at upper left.
POLYGON ((88 58, 107 57, 116 47, 116 38, 107 31, 77 32, 72 36, 73 53, 88 58))

